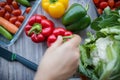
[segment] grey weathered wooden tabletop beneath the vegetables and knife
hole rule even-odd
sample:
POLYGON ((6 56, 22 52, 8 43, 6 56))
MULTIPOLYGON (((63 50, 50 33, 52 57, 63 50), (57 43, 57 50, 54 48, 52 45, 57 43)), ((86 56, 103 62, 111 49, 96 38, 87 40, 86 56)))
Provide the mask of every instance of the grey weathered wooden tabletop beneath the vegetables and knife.
MULTIPOLYGON (((89 0, 70 0, 70 5, 74 2, 81 3, 83 6, 89 3, 89 0)), ((51 18, 47 13, 45 13, 42 8, 36 10, 36 13, 43 14, 48 17, 48 19, 54 21, 56 27, 61 26, 64 27, 60 20, 56 20, 51 18)), ((92 1, 90 1, 90 7, 88 14, 91 16, 92 19, 96 18, 96 12, 94 9, 94 5, 92 1)), ((90 31, 88 28, 80 33, 80 36, 84 39, 86 37, 86 32, 90 31)), ((8 50, 14 53, 17 53, 30 61, 35 62, 38 64, 47 49, 46 42, 35 44, 33 43, 30 38, 28 38, 24 31, 20 35, 19 39, 10 47, 8 50)), ((0 58, 0 80, 33 80, 35 72, 26 68, 25 66, 21 65, 18 62, 8 62, 2 58, 0 58)))

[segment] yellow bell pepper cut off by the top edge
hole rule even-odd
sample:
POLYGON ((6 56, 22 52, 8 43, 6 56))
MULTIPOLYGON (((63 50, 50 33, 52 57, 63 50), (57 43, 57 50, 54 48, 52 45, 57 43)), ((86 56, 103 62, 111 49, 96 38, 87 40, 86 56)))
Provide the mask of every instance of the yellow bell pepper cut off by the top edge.
POLYGON ((60 18, 68 7, 69 0, 42 0, 42 8, 53 18, 60 18))

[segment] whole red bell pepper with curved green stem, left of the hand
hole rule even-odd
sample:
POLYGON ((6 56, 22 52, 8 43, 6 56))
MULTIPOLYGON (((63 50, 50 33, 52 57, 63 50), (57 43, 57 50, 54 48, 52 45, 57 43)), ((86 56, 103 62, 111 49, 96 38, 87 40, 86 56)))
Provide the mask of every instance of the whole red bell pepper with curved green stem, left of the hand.
POLYGON ((54 30, 54 23, 43 15, 34 15, 25 27, 25 33, 35 43, 43 42, 54 30))

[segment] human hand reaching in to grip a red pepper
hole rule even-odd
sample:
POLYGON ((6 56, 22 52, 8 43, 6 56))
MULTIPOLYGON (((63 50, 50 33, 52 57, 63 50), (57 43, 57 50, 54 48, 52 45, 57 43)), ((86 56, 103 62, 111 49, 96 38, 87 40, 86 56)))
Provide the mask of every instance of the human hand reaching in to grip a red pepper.
POLYGON ((79 64, 81 38, 74 35, 63 43, 61 36, 47 49, 39 65, 35 80, 66 80, 72 76, 79 64))

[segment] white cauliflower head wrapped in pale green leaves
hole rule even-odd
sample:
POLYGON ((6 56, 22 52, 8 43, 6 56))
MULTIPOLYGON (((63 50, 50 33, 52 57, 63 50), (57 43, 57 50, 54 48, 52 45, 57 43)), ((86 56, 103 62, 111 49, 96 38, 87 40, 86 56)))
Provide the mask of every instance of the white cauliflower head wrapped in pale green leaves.
POLYGON ((91 80, 120 79, 120 41, 114 36, 98 38, 80 47, 79 70, 91 80))

